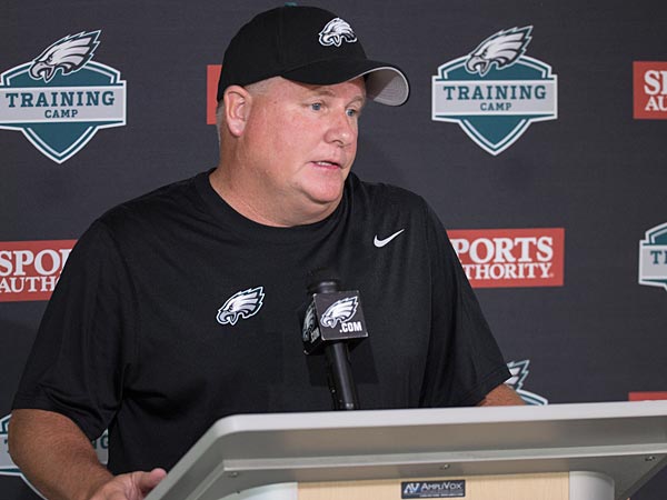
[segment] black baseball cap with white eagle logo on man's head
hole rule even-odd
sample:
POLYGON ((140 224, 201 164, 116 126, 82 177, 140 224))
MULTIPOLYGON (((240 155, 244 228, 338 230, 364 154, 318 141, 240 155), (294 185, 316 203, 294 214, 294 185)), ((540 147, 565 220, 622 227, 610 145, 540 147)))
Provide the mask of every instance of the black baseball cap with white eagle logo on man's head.
POLYGON ((367 97, 389 106, 410 93, 398 67, 368 59, 350 24, 317 7, 279 7, 245 24, 225 52, 218 101, 229 86, 271 77, 318 86, 365 77, 367 97))

